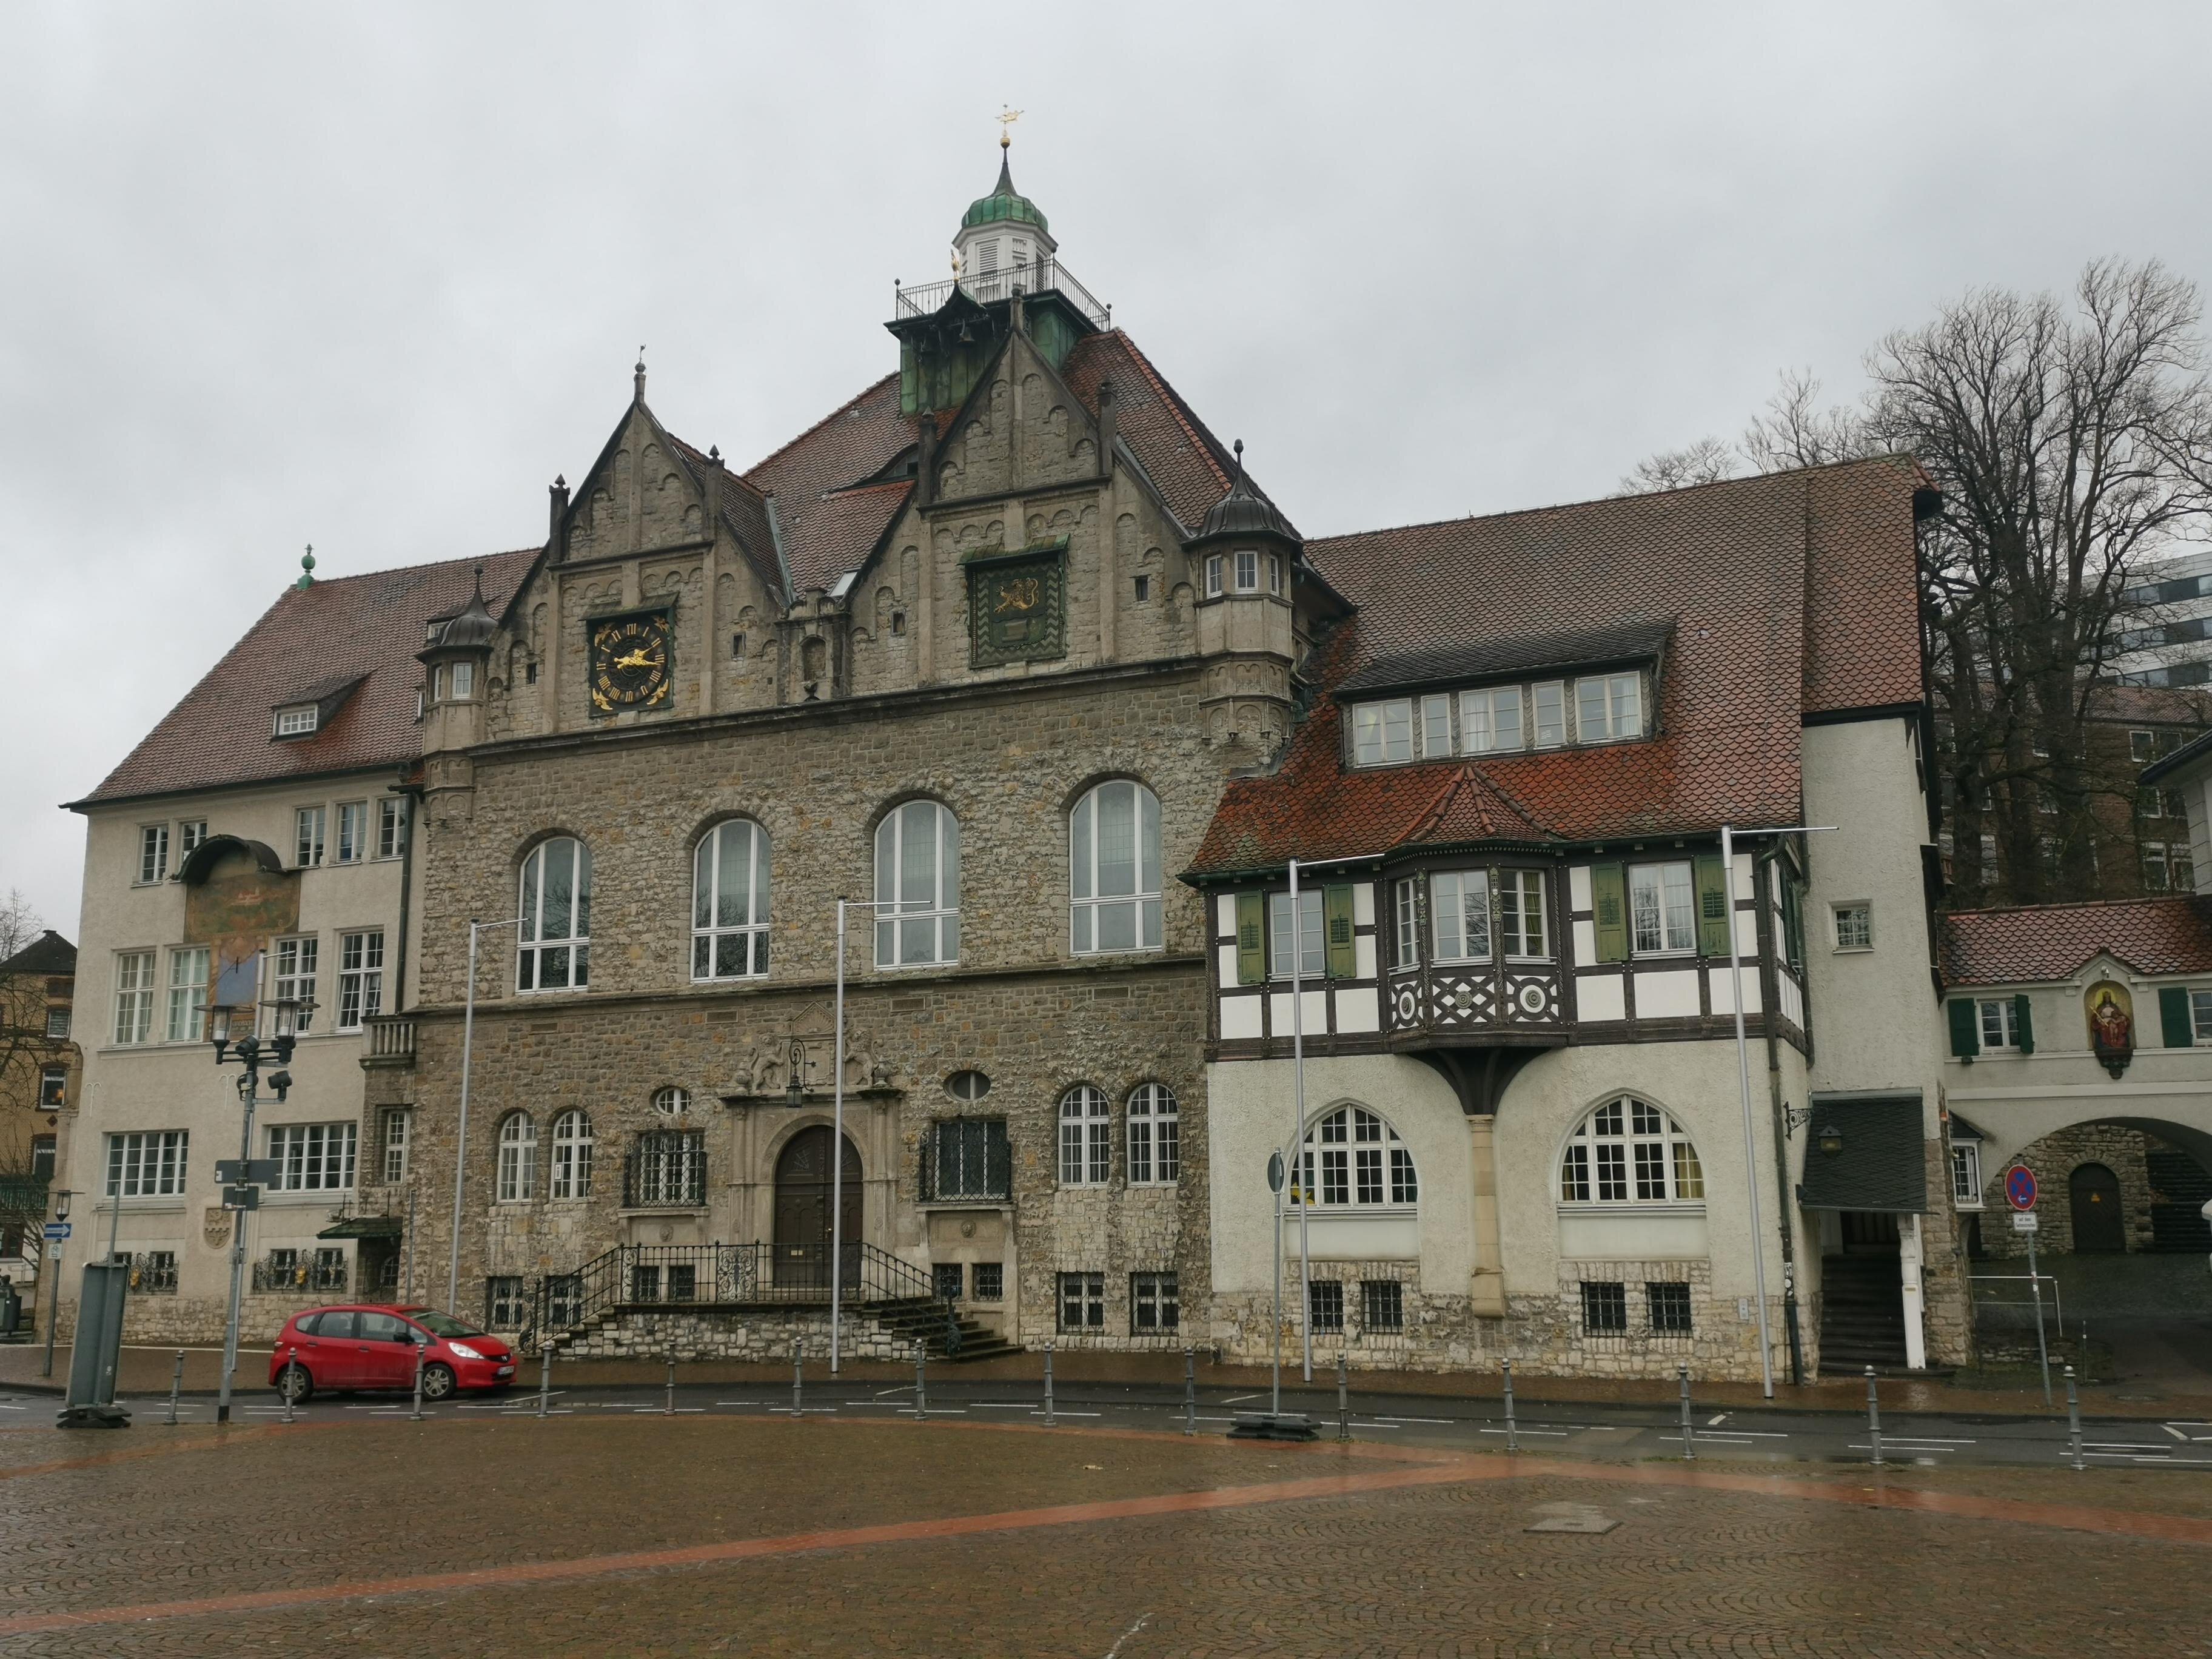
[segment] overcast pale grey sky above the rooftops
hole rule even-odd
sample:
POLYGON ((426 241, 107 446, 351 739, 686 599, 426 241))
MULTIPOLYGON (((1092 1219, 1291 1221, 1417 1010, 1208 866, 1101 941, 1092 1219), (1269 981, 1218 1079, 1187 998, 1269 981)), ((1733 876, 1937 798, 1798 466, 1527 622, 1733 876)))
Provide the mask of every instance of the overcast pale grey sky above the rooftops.
POLYGON ((1608 493, 1785 365, 2212 276, 2203 4, 0 2, 0 891, 296 575, 524 546, 650 400, 737 465, 1013 173, 1312 533, 1608 493))

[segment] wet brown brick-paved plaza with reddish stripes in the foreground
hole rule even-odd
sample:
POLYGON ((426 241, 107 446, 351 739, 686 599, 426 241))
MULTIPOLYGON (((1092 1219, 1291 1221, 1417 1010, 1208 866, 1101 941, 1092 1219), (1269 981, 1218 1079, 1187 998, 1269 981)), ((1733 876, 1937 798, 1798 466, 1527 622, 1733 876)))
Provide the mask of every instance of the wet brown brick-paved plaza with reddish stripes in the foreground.
POLYGON ((0 1655, 2212 1648, 2159 1471, 580 1413, 11 1427, 0 1515, 0 1655))

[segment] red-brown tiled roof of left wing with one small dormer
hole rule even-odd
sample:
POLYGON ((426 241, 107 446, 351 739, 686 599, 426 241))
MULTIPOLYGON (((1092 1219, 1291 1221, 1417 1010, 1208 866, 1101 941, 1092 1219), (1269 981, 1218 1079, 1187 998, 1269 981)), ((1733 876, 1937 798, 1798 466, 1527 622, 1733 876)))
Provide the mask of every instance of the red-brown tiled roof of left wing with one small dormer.
POLYGON ((124 763, 73 805, 414 763, 422 630, 431 617, 469 604, 478 566, 484 599, 500 611, 538 555, 531 546, 288 586, 124 763), (323 730, 272 741, 279 703, 349 681, 358 686, 323 730))

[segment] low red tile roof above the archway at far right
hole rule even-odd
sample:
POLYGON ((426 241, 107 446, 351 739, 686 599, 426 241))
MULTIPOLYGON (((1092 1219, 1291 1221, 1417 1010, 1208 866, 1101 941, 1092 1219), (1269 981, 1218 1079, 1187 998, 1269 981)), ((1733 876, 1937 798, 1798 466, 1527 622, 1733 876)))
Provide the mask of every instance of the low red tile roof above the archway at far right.
POLYGON ((2212 973, 2212 900, 2020 905, 1942 918, 1947 984, 2042 984, 2073 978, 2099 951, 2137 973, 2212 973))

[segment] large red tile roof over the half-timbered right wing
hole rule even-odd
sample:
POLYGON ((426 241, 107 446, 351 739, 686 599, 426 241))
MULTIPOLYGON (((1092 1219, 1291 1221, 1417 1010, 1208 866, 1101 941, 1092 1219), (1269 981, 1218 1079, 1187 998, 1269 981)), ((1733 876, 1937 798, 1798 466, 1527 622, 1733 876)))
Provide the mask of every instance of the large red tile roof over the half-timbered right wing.
POLYGON ((1920 699, 1920 482, 1911 462, 1869 460, 1310 542, 1358 615, 1318 655, 1323 695, 1281 770, 1230 785, 1192 874, 1433 843, 1440 779, 1462 770, 1544 838, 1796 823, 1803 714, 1920 699), (1871 577, 1854 564, 1858 533, 1876 542, 1871 577), (1398 768, 1338 759, 1334 688, 1369 664, 1635 626, 1672 630, 1648 741, 1398 768))

